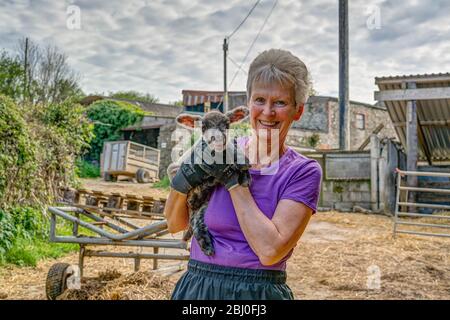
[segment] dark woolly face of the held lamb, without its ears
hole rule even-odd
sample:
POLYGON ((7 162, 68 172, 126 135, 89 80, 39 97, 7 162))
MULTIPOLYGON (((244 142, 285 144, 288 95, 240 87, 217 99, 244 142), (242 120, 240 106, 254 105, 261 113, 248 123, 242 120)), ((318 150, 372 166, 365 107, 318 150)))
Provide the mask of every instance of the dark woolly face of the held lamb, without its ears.
POLYGON ((203 139, 216 152, 222 152, 227 143, 227 130, 230 120, 218 111, 207 113, 202 119, 203 139))

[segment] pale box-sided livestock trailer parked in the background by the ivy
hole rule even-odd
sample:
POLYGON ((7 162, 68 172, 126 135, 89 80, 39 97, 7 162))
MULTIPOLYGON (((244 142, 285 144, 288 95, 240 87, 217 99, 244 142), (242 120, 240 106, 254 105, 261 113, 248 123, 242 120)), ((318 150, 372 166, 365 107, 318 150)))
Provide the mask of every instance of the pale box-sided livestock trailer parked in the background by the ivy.
POLYGON ((132 141, 108 141, 103 145, 100 171, 106 181, 116 181, 118 176, 136 178, 139 183, 158 180, 158 149, 132 141))

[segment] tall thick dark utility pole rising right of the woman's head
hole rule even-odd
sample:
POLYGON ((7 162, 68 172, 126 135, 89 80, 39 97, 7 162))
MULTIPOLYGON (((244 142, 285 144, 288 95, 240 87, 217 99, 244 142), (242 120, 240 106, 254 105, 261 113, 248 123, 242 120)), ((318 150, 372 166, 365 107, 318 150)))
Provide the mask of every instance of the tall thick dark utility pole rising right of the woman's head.
POLYGON ((348 0, 339 0, 339 149, 350 150, 348 0))

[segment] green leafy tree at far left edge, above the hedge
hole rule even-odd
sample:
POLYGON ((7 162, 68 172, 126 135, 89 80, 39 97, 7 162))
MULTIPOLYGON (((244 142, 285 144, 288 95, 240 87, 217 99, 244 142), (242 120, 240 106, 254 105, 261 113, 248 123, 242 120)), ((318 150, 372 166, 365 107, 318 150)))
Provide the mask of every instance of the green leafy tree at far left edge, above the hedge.
POLYGON ((17 101, 22 95, 23 68, 19 60, 7 52, 0 53, 0 94, 17 101))

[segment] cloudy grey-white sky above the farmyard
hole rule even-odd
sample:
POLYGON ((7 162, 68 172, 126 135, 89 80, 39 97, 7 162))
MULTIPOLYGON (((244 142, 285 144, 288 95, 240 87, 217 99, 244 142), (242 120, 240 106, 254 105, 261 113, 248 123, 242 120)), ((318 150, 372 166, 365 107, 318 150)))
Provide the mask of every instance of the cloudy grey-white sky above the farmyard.
MULTIPOLYGON (((12 52, 25 36, 55 44, 86 93, 137 90, 176 101, 183 89, 223 90, 223 39, 255 2, 0 0, 0 48, 12 52)), ((337 2, 261 0, 230 39, 229 90, 245 90, 235 64, 246 70, 263 50, 283 48, 307 64, 320 95, 337 97, 337 2)), ((450 71, 450 1, 351 0, 349 8, 352 100, 373 103, 376 76, 450 71)))

